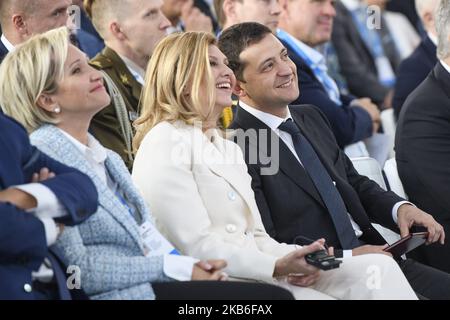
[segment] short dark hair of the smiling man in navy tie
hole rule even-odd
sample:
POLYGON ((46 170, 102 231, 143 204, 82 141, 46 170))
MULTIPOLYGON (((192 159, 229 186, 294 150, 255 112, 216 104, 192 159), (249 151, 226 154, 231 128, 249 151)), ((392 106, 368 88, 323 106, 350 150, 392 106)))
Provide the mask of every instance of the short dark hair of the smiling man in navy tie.
POLYGON ((219 49, 227 56, 229 67, 239 81, 245 82, 243 73, 245 63, 239 56, 242 51, 255 43, 259 43, 272 31, 257 22, 239 23, 224 30, 219 37, 219 49))

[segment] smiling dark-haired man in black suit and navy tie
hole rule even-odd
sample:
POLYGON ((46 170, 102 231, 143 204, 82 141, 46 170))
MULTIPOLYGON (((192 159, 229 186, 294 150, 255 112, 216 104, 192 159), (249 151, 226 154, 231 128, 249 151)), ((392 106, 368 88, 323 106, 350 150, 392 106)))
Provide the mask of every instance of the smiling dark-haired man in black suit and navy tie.
MULTIPOLYGON (((273 238, 287 243, 298 236, 324 238, 344 257, 386 254, 386 241, 370 223, 376 221, 403 236, 419 225, 430 232, 430 243, 443 243, 443 228, 432 216, 356 172, 323 113, 313 106, 288 108, 299 94, 296 68, 268 28, 231 27, 219 48, 238 79, 240 106, 231 128, 237 129, 258 208, 273 238)), ((450 275, 412 260, 399 263, 420 295, 450 298, 450 275)))

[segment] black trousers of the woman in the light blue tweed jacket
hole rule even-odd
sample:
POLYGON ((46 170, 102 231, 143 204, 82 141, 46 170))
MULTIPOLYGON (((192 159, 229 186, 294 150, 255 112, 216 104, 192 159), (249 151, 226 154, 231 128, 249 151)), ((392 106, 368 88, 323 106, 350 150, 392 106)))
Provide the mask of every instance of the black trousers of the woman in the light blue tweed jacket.
POLYGON ((263 283, 189 281, 153 283, 156 300, 294 300, 286 289, 263 283))

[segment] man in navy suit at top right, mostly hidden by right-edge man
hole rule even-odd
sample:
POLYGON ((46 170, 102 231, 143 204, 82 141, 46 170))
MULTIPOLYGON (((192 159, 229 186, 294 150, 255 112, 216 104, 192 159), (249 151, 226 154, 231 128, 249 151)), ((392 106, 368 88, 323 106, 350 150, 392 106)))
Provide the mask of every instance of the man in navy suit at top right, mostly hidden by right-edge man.
POLYGON ((406 98, 425 80, 438 62, 436 56, 437 33, 435 26, 435 10, 438 3, 437 0, 417 0, 417 13, 422 20, 427 34, 416 50, 398 68, 397 82, 392 101, 397 119, 406 98))

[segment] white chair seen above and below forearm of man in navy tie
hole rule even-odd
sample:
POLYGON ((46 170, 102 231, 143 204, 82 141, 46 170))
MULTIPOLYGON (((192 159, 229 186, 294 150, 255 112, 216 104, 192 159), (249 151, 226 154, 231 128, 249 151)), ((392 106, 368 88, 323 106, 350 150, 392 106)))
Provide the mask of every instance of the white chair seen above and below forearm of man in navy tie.
MULTIPOLYGON (((384 190, 387 190, 386 183, 384 182, 383 174, 377 160, 369 157, 353 158, 350 160, 352 161, 353 166, 360 175, 368 177, 370 180, 378 183, 378 185, 384 190)), ((398 239, 400 239, 399 234, 387 228, 384 228, 379 224, 372 223, 372 225, 388 243, 394 243, 398 239)))

